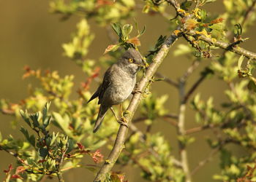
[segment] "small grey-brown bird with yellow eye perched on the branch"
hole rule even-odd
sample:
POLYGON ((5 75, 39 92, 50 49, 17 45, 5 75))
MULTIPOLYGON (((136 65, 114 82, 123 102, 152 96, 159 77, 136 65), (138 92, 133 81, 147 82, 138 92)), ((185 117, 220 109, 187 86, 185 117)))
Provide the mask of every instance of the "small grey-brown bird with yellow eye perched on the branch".
POLYGON ((91 100, 99 98, 99 113, 93 132, 99 130, 108 109, 110 108, 113 111, 113 105, 123 103, 132 93, 136 84, 136 74, 143 67, 143 63, 143 57, 140 52, 134 48, 129 48, 105 72, 102 84, 99 84, 97 91, 87 102, 89 103, 91 100))

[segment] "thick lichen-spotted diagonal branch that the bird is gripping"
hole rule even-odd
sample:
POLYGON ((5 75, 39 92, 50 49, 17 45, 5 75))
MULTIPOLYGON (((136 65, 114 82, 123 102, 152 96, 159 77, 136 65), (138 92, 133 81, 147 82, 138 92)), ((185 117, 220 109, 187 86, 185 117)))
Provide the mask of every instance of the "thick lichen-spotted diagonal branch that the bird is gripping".
MULTIPOLYGON (((167 53, 169 52, 170 47, 174 44, 177 38, 178 36, 176 36, 176 34, 173 33, 165 40, 164 44, 162 44, 161 49, 159 50, 159 52, 157 52, 157 55, 154 56, 153 63, 151 63, 151 65, 148 66, 146 74, 138 83, 137 90, 145 90, 148 83, 151 81, 152 76, 154 76, 155 72, 157 71, 157 68, 160 66, 160 64, 166 57, 167 53)), ((135 95, 133 95, 132 100, 127 108, 127 111, 125 111, 124 114, 124 120, 127 121, 127 124, 129 124, 129 122, 132 121, 132 117, 139 106, 141 97, 142 95, 140 92, 136 92, 135 95)), ((106 159, 104 165, 102 165, 102 168, 97 173, 97 176, 94 179, 94 181, 104 181, 106 174, 109 173, 113 165, 115 165, 116 160, 118 159, 122 149, 124 148, 124 141, 127 135, 127 131, 128 128, 126 126, 121 125, 119 127, 113 149, 110 152, 108 159, 106 159)))

